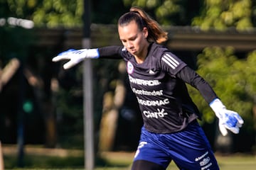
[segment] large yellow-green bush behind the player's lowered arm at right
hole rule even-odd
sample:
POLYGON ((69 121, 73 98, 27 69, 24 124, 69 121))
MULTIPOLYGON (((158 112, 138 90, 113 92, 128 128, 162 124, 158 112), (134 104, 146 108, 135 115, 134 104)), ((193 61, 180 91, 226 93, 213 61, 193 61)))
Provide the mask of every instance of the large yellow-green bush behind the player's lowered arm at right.
MULTIPOLYGON (((245 119, 245 126, 252 130, 252 106, 255 103, 256 51, 250 53, 247 59, 235 57, 233 48, 207 47, 198 55, 198 74, 213 86, 216 94, 225 106, 240 113, 245 119)), ((200 94, 189 87, 192 98, 203 113, 203 120, 212 123, 215 115, 208 103, 201 102, 200 94)))

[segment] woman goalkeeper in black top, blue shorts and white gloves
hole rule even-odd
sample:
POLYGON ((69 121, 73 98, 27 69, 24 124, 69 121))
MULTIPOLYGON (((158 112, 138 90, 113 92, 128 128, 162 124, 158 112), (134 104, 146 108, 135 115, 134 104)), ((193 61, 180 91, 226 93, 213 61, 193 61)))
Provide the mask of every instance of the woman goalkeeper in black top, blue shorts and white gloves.
POLYGON ((144 125, 132 170, 164 170, 173 160, 179 169, 219 169, 197 118, 198 108, 186 89, 200 91, 219 119, 220 132, 239 132, 243 120, 225 108, 209 84, 193 69, 159 45, 167 33, 141 8, 132 7, 118 21, 120 46, 68 50, 53 62, 70 60, 64 69, 85 58, 123 58, 144 125))

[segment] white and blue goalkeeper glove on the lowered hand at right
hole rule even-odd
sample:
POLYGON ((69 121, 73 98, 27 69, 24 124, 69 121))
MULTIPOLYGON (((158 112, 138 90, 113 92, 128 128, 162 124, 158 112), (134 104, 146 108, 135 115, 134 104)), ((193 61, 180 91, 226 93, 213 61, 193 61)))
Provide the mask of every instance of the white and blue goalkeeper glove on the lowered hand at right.
POLYGON ((215 98, 215 100, 210 103, 210 108, 213 109, 219 119, 218 125, 223 136, 228 134, 228 130, 235 134, 239 133, 239 128, 242 127, 244 121, 238 113, 227 110, 218 98, 215 98))

